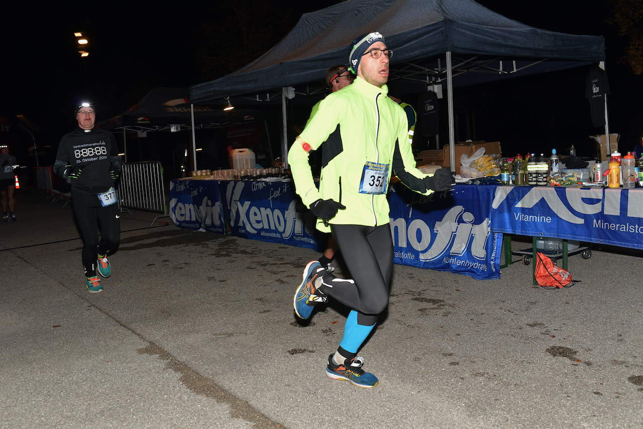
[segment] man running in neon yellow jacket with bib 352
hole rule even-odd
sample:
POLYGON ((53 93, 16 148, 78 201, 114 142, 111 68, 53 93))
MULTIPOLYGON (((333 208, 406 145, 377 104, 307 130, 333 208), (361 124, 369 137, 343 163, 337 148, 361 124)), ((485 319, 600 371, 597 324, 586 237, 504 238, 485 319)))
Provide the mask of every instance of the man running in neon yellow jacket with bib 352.
POLYGON ((334 277, 318 261, 309 262, 294 293, 294 311, 307 319, 313 307, 328 297, 351 309, 340 347, 328 358, 326 374, 367 388, 379 380, 362 369, 364 360, 357 352, 388 306, 393 273, 388 181, 395 174, 424 195, 448 190, 454 183, 449 169, 428 176, 415 168, 407 143, 406 114, 386 96, 392 56, 378 32, 356 40, 349 60, 358 78, 320 103, 288 157, 296 192, 320 219, 318 229, 332 230, 353 277, 334 277), (308 153, 320 146, 318 190, 308 153))

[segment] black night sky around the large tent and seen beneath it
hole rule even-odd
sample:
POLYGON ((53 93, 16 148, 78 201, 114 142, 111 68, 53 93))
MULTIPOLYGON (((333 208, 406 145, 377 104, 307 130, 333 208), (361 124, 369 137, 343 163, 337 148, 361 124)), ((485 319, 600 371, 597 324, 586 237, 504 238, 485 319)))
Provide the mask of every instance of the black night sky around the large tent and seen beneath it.
MULTIPOLYGON (((248 24, 253 31, 262 30, 258 32, 257 48, 261 47, 261 41, 275 44, 301 14, 338 2, 243 0, 237 3, 263 8, 257 9, 257 16, 248 24), (266 29, 260 28, 262 26, 266 29)), ((478 3, 546 30, 606 37, 606 69, 611 87, 610 131, 622 134, 621 151, 633 150, 643 131, 640 107, 643 76, 633 75, 628 64, 620 61, 624 55, 624 38, 619 37, 617 29, 606 20, 609 0, 480 0, 478 3)), ((172 6, 118 1, 23 2, 5 4, 2 8, 0 115, 5 118, 24 115, 32 124, 39 145, 57 146, 60 136, 75 127, 73 109, 79 100, 93 100, 98 111, 97 121, 104 120, 134 105, 152 87, 183 87, 206 82, 220 76, 217 71, 228 65, 224 59, 233 63, 245 58, 240 49, 233 50, 234 55, 230 55, 230 51, 214 50, 219 55, 211 58, 213 67, 204 68, 203 52, 213 52, 207 50, 212 44, 212 35, 221 34, 224 23, 232 19, 229 9, 213 2, 177 2, 172 6), (87 59, 81 59, 75 49, 73 33, 79 30, 86 32, 91 41, 87 59)), ((476 97, 491 100, 487 116, 477 118, 488 125, 478 127, 478 140, 500 140, 503 149, 518 148, 516 151, 520 151, 521 139, 542 140, 544 147, 530 150, 550 151, 552 144, 563 148, 568 142, 561 140, 566 138, 602 133, 601 129, 591 127, 584 93, 572 94, 579 98, 566 104, 578 111, 576 116, 586 115, 586 120, 578 122, 581 125, 570 124, 575 129, 565 130, 565 124, 561 125, 561 120, 556 118, 543 120, 538 107, 531 113, 529 109, 525 111, 525 116, 533 115, 529 127, 512 128, 508 124, 516 121, 511 118, 495 125, 489 122, 493 122, 493 117, 506 116, 507 111, 515 111, 512 105, 536 105, 538 97, 533 95, 534 91, 550 98, 550 103, 556 103, 558 96, 575 94, 576 87, 583 91, 585 74, 583 70, 557 72, 536 79, 521 78, 518 82, 472 87, 460 97, 462 102, 472 102, 476 97), (554 122, 556 127, 552 125, 554 122), (530 138, 525 139, 525 134, 530 138), (534 138, 534 135, 542 137, 534 138), (503 140, 507 140, 506 145, 503 140)), ((555 109, 552 112, 556 112, 555 109)), ((561 114, 561 118, 574 116, 569 116, 569 112, 561 114)), ((523 121, 528 123, 529 118, 523 121)), ((513 154, 506 153, 507 156, 513 154)))

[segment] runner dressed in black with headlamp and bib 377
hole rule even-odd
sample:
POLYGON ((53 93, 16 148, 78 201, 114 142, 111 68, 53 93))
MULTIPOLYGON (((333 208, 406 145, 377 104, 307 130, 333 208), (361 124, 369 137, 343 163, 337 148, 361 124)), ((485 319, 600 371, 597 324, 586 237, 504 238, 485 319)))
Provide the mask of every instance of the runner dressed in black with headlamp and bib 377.
POLYGON ((122 161, 114 134, 95 126, 92 104, 78 105, 76 120, 78 127, 60 140, 53 169, 71 181, 71 204, 84 242, 82 264, 87 290, 96 293, 103 291, 96 269, 102 277, 111 275, 107 252, 118 245, 120 223, 114 180, 120 176, 122 161))

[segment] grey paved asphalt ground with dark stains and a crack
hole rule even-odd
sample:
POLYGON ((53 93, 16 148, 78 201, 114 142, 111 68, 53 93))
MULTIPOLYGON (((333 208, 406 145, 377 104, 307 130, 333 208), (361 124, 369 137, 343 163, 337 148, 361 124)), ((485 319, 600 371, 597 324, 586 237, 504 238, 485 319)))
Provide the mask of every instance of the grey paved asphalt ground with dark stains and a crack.
MULTIPOLYGON (((294 316, 311 250, 122 214, 87 293, 71 205, 21 189, 0 222, 0 428, 642 428, 642 252, 570 257, 572 288, 395 266, 359 352, 324 374, 347 309, 294 316)), ((517 258, 517 257, 516 257, 517 258)))

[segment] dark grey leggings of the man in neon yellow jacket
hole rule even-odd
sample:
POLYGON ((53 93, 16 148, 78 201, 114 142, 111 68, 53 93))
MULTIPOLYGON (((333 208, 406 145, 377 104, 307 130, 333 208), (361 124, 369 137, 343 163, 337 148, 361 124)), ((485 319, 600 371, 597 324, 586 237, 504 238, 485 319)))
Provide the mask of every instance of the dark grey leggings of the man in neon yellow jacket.
POLYGON ((393 240, 390 224, 382 226, 334 225, 332 235, 354 284, 338 282, 328 295, 358 312, 358 324, 376 324, 388 306, 393 275, 393 240))

